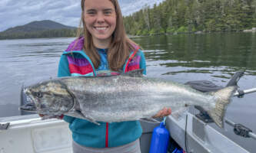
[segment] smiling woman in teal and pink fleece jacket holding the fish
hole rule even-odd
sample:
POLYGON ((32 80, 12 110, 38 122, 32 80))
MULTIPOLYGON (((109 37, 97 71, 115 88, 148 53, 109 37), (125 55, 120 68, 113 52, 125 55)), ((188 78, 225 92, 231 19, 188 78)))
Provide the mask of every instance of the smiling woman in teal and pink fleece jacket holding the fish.
MULTIPOLYGON (((136 69, 146 73, 144 54, 126 36, 117 0, 81 0, 81 11, 84 37, 78 37, 62 54, 58 77, 118 75, 136 69)), ((155 117, 170 114, 171 109, 163 109, 155 117)), ((95 125, 71 116, 63 119, 72 132, 74 153, 141 152, 138 121, 95 125)))

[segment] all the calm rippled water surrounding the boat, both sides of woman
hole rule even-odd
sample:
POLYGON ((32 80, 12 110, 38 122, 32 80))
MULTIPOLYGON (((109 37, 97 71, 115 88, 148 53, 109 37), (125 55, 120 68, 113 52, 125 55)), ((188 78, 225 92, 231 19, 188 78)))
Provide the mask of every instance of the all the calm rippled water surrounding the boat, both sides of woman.
MULTIPOLYGON (((241 90, 256 87, 256 34, 184 34, 173 36, 134 37, 145 50, 149 77, 162 77, 185 83, 210 80, 225 86, 238 70, 244 77, 241 90)), ((18 116, 19 93, 28 85, 57 75, 62 51, 74 38, 26 39, 0 41, 0 117, 18 116)), ((234 98, 227 119, 248 126, 256 132, 256 93, 234 98)), ((213 126, 215 126, 213 124, 213 126)), ((220 130, 253 152, 256 141, 240 138, 226 126, 220 130)), ((217 128, 218 129, 218 128, 217 128)))

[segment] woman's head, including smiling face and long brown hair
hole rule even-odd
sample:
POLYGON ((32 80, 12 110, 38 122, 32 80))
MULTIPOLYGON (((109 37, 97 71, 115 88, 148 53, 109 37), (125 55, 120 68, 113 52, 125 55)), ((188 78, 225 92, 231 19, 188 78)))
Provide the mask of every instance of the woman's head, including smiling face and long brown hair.
MULTIPOLYGON (((131 54, 131 50, 135 50, 135 42, 125 34, 118 2, 115 0, 82 0, 81 11, 81 22, 84 27, 82 29, 86 36, 85 53, 95 67, 98 67, 101 57, 95 47, 108 48, 109 67, 111 70, 118 71, 131 54)), ((80 35, 81 31, 78 31, 78 37, 80 35)))

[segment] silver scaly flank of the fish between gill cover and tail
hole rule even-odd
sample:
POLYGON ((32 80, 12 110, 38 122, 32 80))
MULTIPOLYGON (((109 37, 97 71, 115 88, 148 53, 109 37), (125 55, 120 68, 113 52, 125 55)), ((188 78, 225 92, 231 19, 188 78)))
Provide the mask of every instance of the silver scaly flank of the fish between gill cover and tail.
POLYGON ((63 83, 77 97, 81 112, 102 122, 120 122, 154 116, 164 107, 175 108, 197 103, 202 106, 210 96, 187 86, 175 89, 171 82, 138 77, 97 77, 63 79, 63 83), (79 84, 79 85, 78 85, 79 84), (83 85, 83 86, 81 86, 83 85), (203 99, 198 100, 198 96, 203 99), (194 98, 191 98, 193 96, 194 98))

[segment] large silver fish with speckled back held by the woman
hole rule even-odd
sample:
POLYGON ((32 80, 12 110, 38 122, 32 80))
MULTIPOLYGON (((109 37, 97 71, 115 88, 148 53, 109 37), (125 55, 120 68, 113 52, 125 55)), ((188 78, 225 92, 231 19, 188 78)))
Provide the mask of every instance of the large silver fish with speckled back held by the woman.
MULTIPOLYGON (((140 71, 141 72, 141 71, 140 71)), ((181 83, 142 77, 138 70, 111 77, 62 77, 26 87, 28 102, 20 109, 45 116, 74 116, 98 122, 151 119, 161 109, 172 114, 201 106, 224 127, 224 114, 236 86, 201 93, 181 83)))

